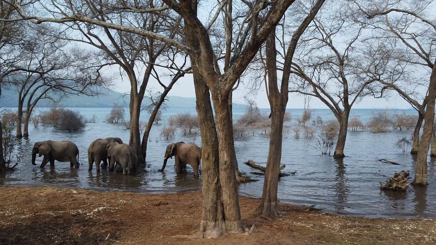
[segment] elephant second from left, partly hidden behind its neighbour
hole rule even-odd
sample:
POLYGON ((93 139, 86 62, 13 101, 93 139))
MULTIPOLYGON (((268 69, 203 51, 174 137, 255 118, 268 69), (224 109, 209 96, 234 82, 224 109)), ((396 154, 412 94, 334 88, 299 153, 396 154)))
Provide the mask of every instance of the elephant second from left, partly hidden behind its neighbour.
MULTIPOLYGON (((106 139, 96 139, 94 140, 88 147, 88 170, 92 170, 92 165, 95 162, 95 167, 97 168, 97 172, 100 171, 100 162, 103 161, 102 167, 107 166, 107 151, 106 146, 111 142, 118 142, 123 144, 123 141, 120 138, 106 138, 106 139)), ((111 161, 111 159, 109 159, 111 161)))

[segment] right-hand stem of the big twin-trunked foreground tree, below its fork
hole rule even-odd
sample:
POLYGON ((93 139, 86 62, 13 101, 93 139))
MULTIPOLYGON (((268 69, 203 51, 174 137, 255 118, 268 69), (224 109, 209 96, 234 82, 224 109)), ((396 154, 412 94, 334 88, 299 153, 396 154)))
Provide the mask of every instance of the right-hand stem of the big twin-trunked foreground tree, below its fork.
POLYGON ((216 128, 220 156, 220 184, 224 205, 224 219, 229 233, 243 232, 239 207, 238 185, 236 181, 235 146, 233 141, 233 125, 229 111, 229 95, 212 91, 213 106, 216 115, 216 128))

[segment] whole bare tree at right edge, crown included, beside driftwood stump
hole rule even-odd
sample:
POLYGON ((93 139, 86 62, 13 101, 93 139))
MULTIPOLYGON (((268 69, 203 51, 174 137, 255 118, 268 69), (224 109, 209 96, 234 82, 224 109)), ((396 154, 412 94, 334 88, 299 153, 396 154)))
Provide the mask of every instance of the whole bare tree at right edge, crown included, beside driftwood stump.
MULTIPOLYGON (((432 138, 436 99, 436 53, 434 52, 436 22, 431 19, 432 8, 429 7, 433 1, 424 0, 413 3, 402 0, 353 2, 367 18, 367 20, 362 18, 361 21, 377 30, 374 32, 375 38, 383 42, 397 44, 396 52, 393 52, 392 56, 398 60, 398 63, 413 66, 414 71, 424 71, 427 74, 427 79, 429 75, 429 82, 425 83, 427 95, 422 103, 418 103, 408 96, 408 90, 401 89, 400 86, 395 86, 396 89, 393 83, 388 84, 418 111, 420 118, 418 118, 415 128, 414 140, 418 140, 417 136, 422 119, 425 121, 418 145, 413 183, 427 185, 427 154, 432 138)), ((419 83, 419 81, 415 81, 415 83, 419 83)), ((416 147, 416 144, 414 146, 416 147)))

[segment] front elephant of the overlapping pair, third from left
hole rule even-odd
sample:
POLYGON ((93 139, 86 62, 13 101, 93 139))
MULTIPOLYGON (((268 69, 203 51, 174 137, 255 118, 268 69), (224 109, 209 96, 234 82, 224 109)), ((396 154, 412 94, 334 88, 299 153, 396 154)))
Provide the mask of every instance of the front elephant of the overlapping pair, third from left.
MULTIPOLYGON (((113 171, 115 163, 120 164, 123 169, 123 174, 135 171, 138 164, 138 157, 133 152, 132 148, 126 144, 111 142, 106 146, 107 156, 111 158, 109 170, 113 171)), ((118 168, 121 170, 120 168, 118 168)))

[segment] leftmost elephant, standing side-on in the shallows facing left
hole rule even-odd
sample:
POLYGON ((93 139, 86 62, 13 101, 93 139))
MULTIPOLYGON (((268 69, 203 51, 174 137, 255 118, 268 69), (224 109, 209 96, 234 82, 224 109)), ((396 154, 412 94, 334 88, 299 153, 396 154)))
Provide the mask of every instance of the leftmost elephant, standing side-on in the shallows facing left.
POLYGON ((47 162, 50 167, 55 167, 55 160, 60 162, 70 162, 70 167, 79 167, 79 148, 71 141, 40 141, 35 142, 32 150, 32 164, 36 165, 36 154, 44 155, 39 166, 43 168, 47 162))

